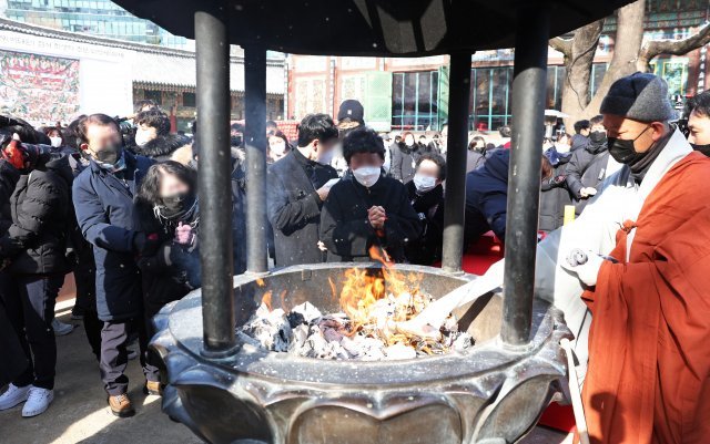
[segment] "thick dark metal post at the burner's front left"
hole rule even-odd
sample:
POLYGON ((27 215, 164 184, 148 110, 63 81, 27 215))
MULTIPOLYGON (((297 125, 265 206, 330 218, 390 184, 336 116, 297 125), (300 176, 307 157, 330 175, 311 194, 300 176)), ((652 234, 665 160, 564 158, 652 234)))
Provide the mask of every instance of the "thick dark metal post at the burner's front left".
POLYGON ((221 8, 195 12, 202 322, 207 354, 229 353, 235 345, 226 17, 221 8))

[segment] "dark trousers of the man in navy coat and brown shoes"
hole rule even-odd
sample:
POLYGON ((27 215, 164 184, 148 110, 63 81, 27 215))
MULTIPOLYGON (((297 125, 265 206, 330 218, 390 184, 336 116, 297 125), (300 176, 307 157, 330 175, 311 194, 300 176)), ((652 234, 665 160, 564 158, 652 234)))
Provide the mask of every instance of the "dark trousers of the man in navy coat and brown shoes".
POLYGON ((142 318, 122 321, 104 321, 101 330, 101 379, 106 392, 112 395, 126 393, 129 378, 125 375, 129 357, 125 347, 131 333, 138 332, 141 349, 141 366, 148 381, 160 381, 159 370, 146 363, 148 333, 142 318))

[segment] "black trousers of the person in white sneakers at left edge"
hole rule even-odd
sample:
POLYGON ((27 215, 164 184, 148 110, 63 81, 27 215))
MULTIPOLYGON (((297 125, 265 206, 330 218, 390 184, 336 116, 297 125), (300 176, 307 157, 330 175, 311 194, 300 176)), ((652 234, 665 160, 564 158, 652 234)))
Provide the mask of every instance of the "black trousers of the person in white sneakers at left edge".
POLYGON ((52 319, 64 275, 0 273, 0 281, 8 318, 29 361, 28 368, 12 383, 51 390, 54 388, 57 366, 52 319))

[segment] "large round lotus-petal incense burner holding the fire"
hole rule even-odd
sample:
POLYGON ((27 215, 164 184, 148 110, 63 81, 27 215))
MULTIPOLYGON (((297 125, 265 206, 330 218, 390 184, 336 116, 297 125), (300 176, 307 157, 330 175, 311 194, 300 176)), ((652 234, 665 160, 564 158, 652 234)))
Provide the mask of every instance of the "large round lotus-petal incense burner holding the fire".
MULTIPOLYGON (((378 272, 373 265, 323 264, 236 277, 237 324, 268 290, 283 295, 273 298, 274 308, 311 301, 324 312, 338 311, 328 278, 337 285, 352 267, 378 272)), ((422 273, 422 290, 434 298, 475 278, 396 268, 422 273)), ((202 301, 195 291, 154 320, 159 333, 152 347, 170 382, 163 409, 210 443, 515 443, 535 425, 566 374, 559 341, 571 334, 560 311, 536 302, 529 344, 506 348, 498 338, 501 307, 500 296, 491 293, 455 313, 459 328, 476 340, 464 353, 332 361, 242 344, 216 359, 201 353, 202 301)))

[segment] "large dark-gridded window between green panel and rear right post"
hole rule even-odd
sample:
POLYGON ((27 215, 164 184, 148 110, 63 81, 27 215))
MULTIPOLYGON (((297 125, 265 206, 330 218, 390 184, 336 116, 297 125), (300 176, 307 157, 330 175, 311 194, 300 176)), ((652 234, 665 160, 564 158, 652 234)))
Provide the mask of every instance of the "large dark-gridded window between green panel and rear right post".
POLYGON ((438 128, 438 71, 396 72, 392 79, 392 127, 438 128))

